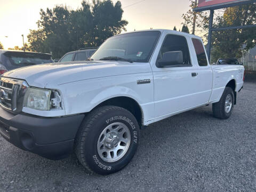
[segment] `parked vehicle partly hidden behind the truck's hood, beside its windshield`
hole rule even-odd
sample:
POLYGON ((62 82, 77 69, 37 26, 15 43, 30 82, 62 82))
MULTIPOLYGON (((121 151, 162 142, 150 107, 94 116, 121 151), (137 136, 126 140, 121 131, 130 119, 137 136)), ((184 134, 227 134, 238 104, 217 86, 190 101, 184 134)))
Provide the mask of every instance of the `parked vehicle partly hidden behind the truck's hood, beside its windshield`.
POLYGON ((63 55, 59 62, 86 61, 98 49, 98 47, 87 47, 78 51, 71 51, 63 55))

